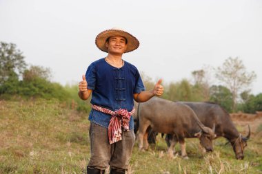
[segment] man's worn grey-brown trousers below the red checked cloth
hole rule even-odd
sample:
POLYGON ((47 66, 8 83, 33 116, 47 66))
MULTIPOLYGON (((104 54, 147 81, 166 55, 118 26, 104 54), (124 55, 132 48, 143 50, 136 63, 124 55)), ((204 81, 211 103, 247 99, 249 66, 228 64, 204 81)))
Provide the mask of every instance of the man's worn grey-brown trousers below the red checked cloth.
POLYGON ((119 142, 110 144, 108 129, 91 122, 90 124, 91 157, 88 166, 105 170, 111 168, 128 169, 132 148, 134 146, 134 130, 123 131, 119 142))

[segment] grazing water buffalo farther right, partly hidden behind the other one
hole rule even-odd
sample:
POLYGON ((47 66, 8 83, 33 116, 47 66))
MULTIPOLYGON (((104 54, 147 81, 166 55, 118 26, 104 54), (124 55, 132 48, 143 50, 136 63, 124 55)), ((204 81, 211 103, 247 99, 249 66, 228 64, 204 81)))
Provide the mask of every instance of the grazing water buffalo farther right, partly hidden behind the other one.
MULTIPOLYGON (((248 135, 243 137, 236 130, 230 115, 220 105, 212 102, 177 102, 188 105, 194 110, 199 120, 207 127, 216 125, 216 137, 224 137, 232 144, 237 160, 243 160, 244 148, 247 146, 247 141, 250 138, 250 127, 248 126, 248 135)), ((177 138, 174 135, 168 134, 165 138, 168 146, 175 144, 177 138)))

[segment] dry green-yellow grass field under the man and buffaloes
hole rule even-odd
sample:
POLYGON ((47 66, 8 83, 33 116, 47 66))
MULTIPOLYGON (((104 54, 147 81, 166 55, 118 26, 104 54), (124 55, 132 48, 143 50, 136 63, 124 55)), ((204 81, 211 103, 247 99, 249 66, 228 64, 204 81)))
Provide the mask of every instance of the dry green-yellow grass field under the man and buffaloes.
MULTIPOLYGON (((201 153, 198 140, 188 139, 190 159, 179 154, 170 159, 159 135, 149 151, 134 146, 128 173, 262 173, 261 127, 252 134, 244 160, 235 160, 223 138, 215 140, 214 152, 207 154, 201 153)), ((1 100, 0 173, 85 173, 90 157, 88 129, 86 113, 56 100, 1 100)), ((179 146, 176 149, 180 151, 179 146)))

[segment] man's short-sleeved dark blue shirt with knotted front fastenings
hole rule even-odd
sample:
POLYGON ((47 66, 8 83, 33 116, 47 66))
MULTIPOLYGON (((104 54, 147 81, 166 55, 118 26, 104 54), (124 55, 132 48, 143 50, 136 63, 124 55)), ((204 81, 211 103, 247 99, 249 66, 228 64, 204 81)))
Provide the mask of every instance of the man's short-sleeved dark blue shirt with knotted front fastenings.
MULTIPOLYGON (((105 107, 111 111, 134 107, 133 94, 145 90, 137 67, 124 61, 121 68, 113 67, 101 58, 94 61, 85 73, 88 89, 92 89, 92 105, 105 107)), ((91 122, 108 127, 111 116, 92 109, 88 118, 91 122)), ((134 129, 134 120, 131 116, 130 129, 134 129)))

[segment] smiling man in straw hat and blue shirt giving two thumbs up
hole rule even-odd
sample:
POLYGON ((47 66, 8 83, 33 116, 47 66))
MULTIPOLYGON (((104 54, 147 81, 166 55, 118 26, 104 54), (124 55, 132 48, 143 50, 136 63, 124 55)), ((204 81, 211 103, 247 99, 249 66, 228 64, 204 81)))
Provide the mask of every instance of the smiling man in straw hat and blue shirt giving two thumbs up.
POLYGON ((123 61, 123 53, 139 47, 139 41, 119 28, 97 35, 97 47, 108 56, 94 61, 79 83, 79 97, 87 100, 92 94, 90 111, 91 157, 88 174, 125 173, 134 146, 134 100, 145 102, 163 94, 161 80, 154 89, 145 91, 134 65, 123 61))

